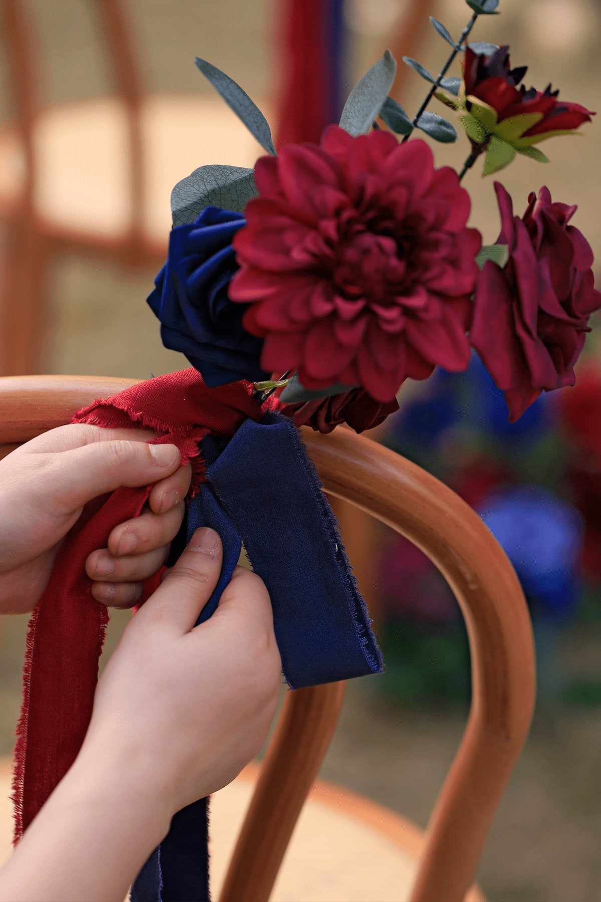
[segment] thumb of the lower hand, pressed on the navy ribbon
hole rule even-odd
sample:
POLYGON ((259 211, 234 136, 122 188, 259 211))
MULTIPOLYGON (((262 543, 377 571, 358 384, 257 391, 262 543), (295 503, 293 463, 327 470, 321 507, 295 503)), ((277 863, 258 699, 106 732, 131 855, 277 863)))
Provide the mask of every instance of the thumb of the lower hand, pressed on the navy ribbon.
POLYGON ((222 558, 222 541, 214 529, 196 529, 178 563, 167 571, 134 620, 148 621, 150 628, 168 624, 179 633, 192 630, 214 592, 222 558))

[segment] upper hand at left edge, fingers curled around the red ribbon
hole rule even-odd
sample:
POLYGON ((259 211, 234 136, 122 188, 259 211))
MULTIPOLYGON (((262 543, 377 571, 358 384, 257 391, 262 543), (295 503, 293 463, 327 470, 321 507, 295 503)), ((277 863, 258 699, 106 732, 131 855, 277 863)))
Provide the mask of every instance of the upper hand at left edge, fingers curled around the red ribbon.
POLYGON ((122 485, 155 483, 149 510, 115 527, 108 548, 87 559, 98 601, 131 607, 157 572, 182 521, 190 467, 175 445, 148 445, 151 432, 61 426, 0 461, 0 613, 32 611, 58 543, 84 505, 122 485))

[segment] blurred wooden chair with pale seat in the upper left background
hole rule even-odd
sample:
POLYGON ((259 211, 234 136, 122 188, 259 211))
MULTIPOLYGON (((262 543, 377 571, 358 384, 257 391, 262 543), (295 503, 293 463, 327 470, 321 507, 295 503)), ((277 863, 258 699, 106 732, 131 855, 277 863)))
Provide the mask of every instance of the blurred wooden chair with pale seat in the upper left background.
MULTIPOLYGON (((399 59, 413 52, 435 3, 411 0, 390 36, 399 59)), ((0 130, 3 375, 40 371, 54 253, 78 250, 158 269, 173 185, 206 163, 252 166, 263 152, 216 94, 150 95, 126 2, 95 4, 116 91, 44 109, 41 54, 26 0, 0 0, 14 105, 14 123, 0 130)), ((400 67, 397 92, 404 78, 400 67)))

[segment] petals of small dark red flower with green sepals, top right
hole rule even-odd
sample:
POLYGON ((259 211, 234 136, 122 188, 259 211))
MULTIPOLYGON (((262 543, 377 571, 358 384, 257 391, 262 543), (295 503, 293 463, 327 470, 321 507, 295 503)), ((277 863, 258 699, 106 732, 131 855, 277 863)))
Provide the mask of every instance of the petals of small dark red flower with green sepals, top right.
POLYGON ((537 91, 534 87, 526 90, 520 82, 527 70, 527 66, 520 66, 519 69, 511 68, 508 47, 499 47, 489 56, 478 55, 468 47, 463 66, 468 110, 469 97, 477 97, 478 100, 492 106, 496 111, 498 123, 515 115, 542 113, 540 122, 522 133, 521 138, 571 131, 585 122, 590 122, 590 117, 595 115, 594 113, 579 104, 558 100, 560 92, 552 91, 551 85, 545 87, 544 91, 537 91))

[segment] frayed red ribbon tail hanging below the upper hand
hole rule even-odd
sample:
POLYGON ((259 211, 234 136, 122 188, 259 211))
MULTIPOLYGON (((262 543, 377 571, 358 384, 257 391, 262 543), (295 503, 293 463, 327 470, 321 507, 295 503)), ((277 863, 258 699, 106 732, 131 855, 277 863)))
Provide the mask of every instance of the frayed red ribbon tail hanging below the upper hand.
POLYGON ((77 758, 92 716, 108 612, 91 594, 87 556, 138 516, 149 494, 150 487, 122 488, 87 505, 32 613, 14 752, 15 842, 77 758))

